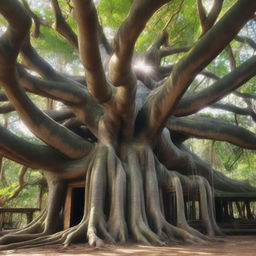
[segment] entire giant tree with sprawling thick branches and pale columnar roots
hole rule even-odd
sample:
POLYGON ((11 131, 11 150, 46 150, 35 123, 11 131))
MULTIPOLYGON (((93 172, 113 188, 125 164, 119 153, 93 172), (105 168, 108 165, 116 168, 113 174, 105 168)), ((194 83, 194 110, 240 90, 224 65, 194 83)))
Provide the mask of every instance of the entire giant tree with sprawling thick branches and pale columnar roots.
POLYGON ((163 32, 143 54, 155 65, 157 80, 167 77, 163 82, 133 68, 137 57, 134 47, 150 17, 170 1, 133 1, 111 48, 101 34, 93 1, 73 1, 76 37, 58 2, 52 0, 55 28, 79 53, 85 79, 56 72, 38 55, 29 37, 30 17, 35 19, 35 15, 23 2, 24 6, 16 0, 0 1, 0 11, 9 23, 0 39, 0 83, 4 96, 44 145, 25 141, 0 127, 0 152, 25 166, 43 169, 49 199, 47 209, 28 227, 3 232, 1 249, 79 241, 94 246, 128 240, 162 245, 176 240, 203 242, 221 234, 214 218, 213 188, 229 192, 255 188, 213 170, 189 152, 183 141, 195 136, 255 149, 256 136, 227 122, 186 116, 252 78, 256 57, 223 78, 214 77, 217 81, 199 94, 183 95, 195 76, 253 17, 256 2, 237 1, 214 25, 223 1, 215 1, 208 17, 198 1, 202 34, 193 47, 163 50, 167 36, 163 32), (101 43, 110 54, 107 75, 101 43), (188 50, 174 66, 160 66, 161 58, 188 50), (17 63, 19 53, 23 65, 17 63), (26 91, 61 101, 67 109, 43 113, 26 91), (66 186, 74 180, 85 182, 83 218, 78 225, 60 230, 66 186), (205 234, 188 225, 183 191, 198 195, 205 234), (176 225, 166 217, 170 205, 163 198, 170 192, 176 196, 176 225))

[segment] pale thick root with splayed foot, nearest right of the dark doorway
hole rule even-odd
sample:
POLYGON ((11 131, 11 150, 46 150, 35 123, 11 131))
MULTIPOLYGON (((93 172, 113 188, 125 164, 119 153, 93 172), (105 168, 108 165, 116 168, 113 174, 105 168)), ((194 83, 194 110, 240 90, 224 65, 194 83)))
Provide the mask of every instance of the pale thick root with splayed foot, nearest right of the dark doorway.
POLYGON ((81 223, 65 239, 69 244, 87 239, 92 246, 100 247, 104 241, 113 243, 115 240, 107 230, 104 214, 107 180, 108 149, 99 146, 90 164, 86 180, 85 210, 81 223))

